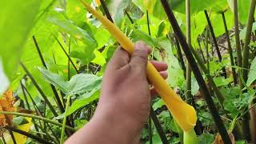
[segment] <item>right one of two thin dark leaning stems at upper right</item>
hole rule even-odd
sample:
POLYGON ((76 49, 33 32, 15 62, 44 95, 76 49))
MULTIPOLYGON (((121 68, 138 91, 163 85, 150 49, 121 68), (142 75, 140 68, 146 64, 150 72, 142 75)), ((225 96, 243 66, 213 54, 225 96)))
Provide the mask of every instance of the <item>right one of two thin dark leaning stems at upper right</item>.
MULTIPOLYGON (((226 18, 225 18, 224 13, 222 13, 222 19, 223 19, 223 23, 224 23, 224 27, 225 27, 225 31, 226 31, 226 41, 227 41, 227 46, 229 48, 229 53, 230 53, 230 63, 231 63, 231 66, 234 66, 233 50, 232 50, 232 47, 231 47, 231 44, 230 44, 230 34, 229 34, 229 30, 227 30, 226 18)), ((237 75, 235 74, 234 67, 232 67, 232 74, 233 74, 234 86, 235 86, 238 83, 238 80, 237 80, 237 75)))

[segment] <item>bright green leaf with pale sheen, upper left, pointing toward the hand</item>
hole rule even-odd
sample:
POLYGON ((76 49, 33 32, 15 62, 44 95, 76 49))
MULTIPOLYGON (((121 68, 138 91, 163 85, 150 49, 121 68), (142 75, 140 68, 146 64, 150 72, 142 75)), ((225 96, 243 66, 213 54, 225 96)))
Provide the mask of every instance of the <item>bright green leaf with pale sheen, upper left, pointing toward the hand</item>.
POLYGON ((75 38, 82 39, 84 42, 89 43, 90 46, 97 47, 97 42, 94 36, 90 34, 90 30, 82 30, 73 22, 66 19, 60 12, 52 10, 47 17, 47 21, 62 28, 67 33, 72 34, 75 38))

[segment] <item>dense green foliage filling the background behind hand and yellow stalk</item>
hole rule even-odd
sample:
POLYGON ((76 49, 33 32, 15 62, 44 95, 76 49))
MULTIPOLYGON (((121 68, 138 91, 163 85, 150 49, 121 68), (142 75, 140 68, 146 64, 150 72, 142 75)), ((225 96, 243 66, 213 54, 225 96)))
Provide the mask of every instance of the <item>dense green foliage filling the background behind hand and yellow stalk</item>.
MULTIPOLYGON (((186 70, 180 38, 174 34, 162 1, 85 1, 102 14, 109 11, 114 24, 133 42, 143 40, 153 48, 150 58, 169 66, 166 81, 170 87, 197 110, 199 141, 223 143, 195 74, 186 70)), ((231 141, 256 142, 255 0, 191 0, 190 26, 186 1, 168 2, 183 34, 187 36, 190 30, 190 51, 231 141)), ((3 1, 0 44, 2 143, 59 143, 84 126, 97 106, 106 63, 118 47, 78 0, 3 1), (15 98, 11 102, 10 91, 15 98), (12 103, 11 110, 6 103, 12 103)), ((170 143, 182 142, 182 132, 162 99, 154 98, 152 107, 153 120, 150 117, 142 130, 141 142, 162 143, 165 138, 170 143)))

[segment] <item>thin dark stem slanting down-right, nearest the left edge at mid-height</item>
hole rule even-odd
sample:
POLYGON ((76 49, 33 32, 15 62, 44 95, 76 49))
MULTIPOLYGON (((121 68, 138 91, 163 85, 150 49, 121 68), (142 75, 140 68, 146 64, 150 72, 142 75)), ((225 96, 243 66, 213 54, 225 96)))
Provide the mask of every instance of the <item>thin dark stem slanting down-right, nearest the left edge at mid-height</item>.
POLYGON ((49 106, 51 112, 54 114, 55 117, 58 117, 57 112, 54 109, 54 106, 51 105, 50 101, 48 100, 48 98, 46 97, 46 94, 43 93, 42 89, 40 88, 40 86, 38 86, 38 83, 34 80, 33 76, 30 74, 30 72, 26 69, 26 66, 23 65, 23 63, 21 62, 21 66, 23 68, 23 70, 26 72, 26 74, 29 76, 31 82, 34 84, 34 86, 38 89, 38 92, 42 95, 42 98, 45 100, 46 104, 49 106))

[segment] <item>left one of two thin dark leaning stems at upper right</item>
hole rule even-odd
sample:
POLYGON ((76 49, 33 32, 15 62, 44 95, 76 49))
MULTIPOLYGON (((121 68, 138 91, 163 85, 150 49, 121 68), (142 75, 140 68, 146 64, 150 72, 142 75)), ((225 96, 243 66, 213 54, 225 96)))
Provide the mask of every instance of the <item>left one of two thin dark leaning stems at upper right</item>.
MULTIPOLYGON (((210 18, 209 18, 209 15, 207 14, 207 11, 204 10, 205 14, 206 14, 206 20, 208 22, 208 26, 209 26, 209 29, 210 29, 210 34, 211 34, 211 37, 213 38, 213 41, 214 41, 214 45, 215 45, 215 48, 217 50, 217 54, 218 54, 218 60, 219 62, 222 62, 222 54, 218 48, 218 42, 216 40, 216 37, 215 37, 215 34, 214 34, 214 29, 213 29, 213 26, 211 25, 211 22, 210 22, 210 18)), ((224 75, 224 78, 226 78, 226 70, 225 70, 225 66, 222 67, 222 71, 223 71, 223 75, 224 75)))

